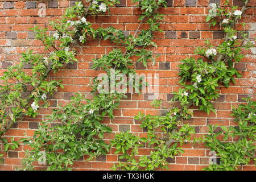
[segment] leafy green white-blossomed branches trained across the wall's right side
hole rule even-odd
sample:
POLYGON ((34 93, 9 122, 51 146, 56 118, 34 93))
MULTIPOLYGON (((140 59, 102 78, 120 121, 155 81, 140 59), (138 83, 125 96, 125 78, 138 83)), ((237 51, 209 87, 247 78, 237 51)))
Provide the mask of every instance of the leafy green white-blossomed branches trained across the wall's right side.
MULTIPOLYGON (((237 169, 242 164, 248 164, 250 159, 255 160, 255 102, 247 100, 247 106, 241 105, 238 109, 233 109, 238 127, 222 127, 222 131, 214 133, 217 126, 209 126, 210 134, 205 138, 193 138, 191 141, 191 135, 195 133, 195 130, 192 126, 182 125, 184 119, 190 119, 193 116, 193 110, 189 109, 190 106, 197 106, 199 110, 208 114, 210 111, 216 113, 211 101, 220 97, 218 90, 220 86, 228 87, 230 81, 235 83, 234 76, 241 77, 241 74, 234 68, 234 63, 241 61, 244 56, 242 50, 253 47, 253 44, 250 41, 245 41, 247 34, 243 31, 238 32, 235 24, 238 19, 241 19, 248 2, 243 1, 241 11, 237 10, 237 6, 225 9, 216 4, 213 5, 212 9, 209 10, 207 22, 210 21, 210 26, 220 24, 224 28, 224 42, 214 47, 207 40, 205 42, 207 48, 200 47, 195 51, 204 59, 196 60, 189 57, 181 60, 183 64, 179 65, 179 76, 181 77, 179 83, 183 85, 183 88, 174 92, 175 96, 171 100, 171 103, 178 101, 180 106, 177 107, 174 103, 167 114, 162 116, 145 116, 139 113, 135 119, 139 119, 142 122, 141 127, 148 130, 147 138, 142 140, 133 135, 127 135, 127 133, 117 135, 112 146, 117 149, 117 153, 122 151, 122 159, 125 159, 126 162, 119 162, 114 166, 114 169, 167 169, 167 158, 182 154, 183 150, 178 147, 178 143, 182 146, 184 142, 203 141, 217 153, 221 159, 221 164, 211 164, 206 168, 209 170, 237 169), (241 35, 240 40, 238 40, 238 35, 241 35), (242 110, 242 108, 247 109, 247 111, 242 110), (247 118, 249 114, 250 117, 247 118), (160 133, 156 132, 158 129, 160 129, 160 133), (218 135, 222 133, 225 135, 224 140, 229 137, 241 137, 238 142, 222 142, 218 138, 218 135), (133 143, 135 147, 131 145, 130 140, 137 141, 133 143), (145 141, 147 147, 151 148, 150 156, 139 156, 138 147, 143 146, 141 143, 145 141), (131 155, 129 155, 129 151, 132 151, 131 155)), ((228 3, 227 1, 225 4, 228 5, 228 3)), ((245 24, 242 23, 242 26, 245 27, 245 24)), ((152 102, 152 105, 160 107, 160 103, 157 101, 152 102)))

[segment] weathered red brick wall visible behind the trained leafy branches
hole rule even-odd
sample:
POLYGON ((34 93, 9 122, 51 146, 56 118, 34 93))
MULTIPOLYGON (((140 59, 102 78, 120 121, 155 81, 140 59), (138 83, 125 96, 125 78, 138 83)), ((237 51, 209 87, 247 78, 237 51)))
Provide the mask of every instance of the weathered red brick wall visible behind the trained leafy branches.
MULTIPOLYGON (((195 56, 193 51, 196 47, 204 46, 204 40, 212 40, 214 45, 222 41, 222 32, 219 27, 209 28, 205 23, 205 14, 209 10, 209 1, 218 2, 218 0, 167 0, 168 7, 160 11, 164 14, 164 21, 161 24, 164 32, 155 34, 155 43, 158 45, 154 49, 155 54, 159 54, 154 66, 148 64, 144 68, 141 64, 136 64, 138 73, 159 73, 160 88, 159 98, 163 100, 161 109, 153 109, 148 100, 148 94, 128 94, 126 100, 121 101, 119 110, 116 110, 116 118, 112 121, 104 121, 108 126, 113 128, 114 132, 131 130, 142 136, 145 135, 139 127, 139 123, 134 121, 134 115, 141 111, 145 114, 163 114, 169 107, 168 100, 172 98, 172 92, 179 89, 179 72, 177 65, 180 60, 188 56, 195 56)), ((224 1, 221 0, 221 3, 224 1)), ((239 5, 239 1, 233 0, 234 5, 239 5)), ((29 30, 36 25, 47 27, 48 21, 60 18, 64 10, 72 1, 22 1, 22 0, 1 0, 0 2, 0 76, 9 65, 14 65, 19 61, 20 53, 27 49, 34 49, 37 53, 47 53, 39 40, 34 39, 34 34, 29 30), (44 2, 47 5, 46 16, 38 16, 38 3, 44 2), (37 5, 36 5, 37 3, 37 5)), ((230 0, 232 3, 232 0, 230 0)), ((249 6, 254 6, 255 0, 251 0, 249 6)), ((90 17, 89 21, 94 23, 94 27, 121 28, 127 34, 133 34, 138 27, 139 9, 133 7, 131 0, 122 0, 119 7, 114 7, 109 14, 90 17)), ((247 9, 241 22, 246 22, 246 31, 249 32, 251 39, 256 35, 256 11, 247 9)), ((238 24, 237 27, 241 29, 238 24)), ((38 122, 46 119, 46 115, 59 104, 67 103, 69 98, 75 92, 85 92, 89 96, 89 83, 93 77, 98 75, 98 71, 90 69, 92 59, 108 53, 113 48, 113 43, 100 40, 89 40, 83 46, 77 46, 79 52, 78 63, 67 65, 55 74, 51 74, 51 79, 63 80, 64 89, 59 89, 52 99, 52 106, 49 109, 40 110, 40 115, 35 119, 26 118, 18 122, 14 129, 8 133, 8 137, 22 138, 24 134, 31 136, 37 128, 38 122)), ((221 126, 235 125, 233 118, 230 117, 232 106, 241 103, 241 98, 252 96, 256 100, 256 49, 252 48, 244 52, 247 56, 236 64, 236 68, 242 73, 242 78, 236 78, 236 85, 230 88, 221 88, 221 97, 214 101, 217 114, 210 113, 207 115, 202 111, 195 110, 195 119, 185 121, 196 126, 196 135, 207 133, 207 125, 218 124, 221 126)), ((196 57, 196 56, 195 56, 196 57)), ((105 139, 113 139, 114 133, 106 134, 105 139)), ((0 147, 1 144, 0 144, 0 147)), ((176 156, 170 160, 170 169, 172 170, 200 170, 208 164, 209 150, 200 144, 186 144, 183 146, 185 153, 182 156, 176 156)), ((23 150, 26 146, 20 146, 15 151, 9 151, 5 155, 5 164, 0 165, 0 170, 13 170, 20 166, 24 157, 23 150)), ((148 154, 147 148, 141 148, 140 155, 148 154)), ((86 158, 86 156, 84 157, 86 158)), ((76 169, 109 169, 113 163, 118 161, 118 155, 112 152, 106 156, 100 156, 93 162, 75 162, 76 169)), ((243 169, 253 169, 251 166, 243 169)))

